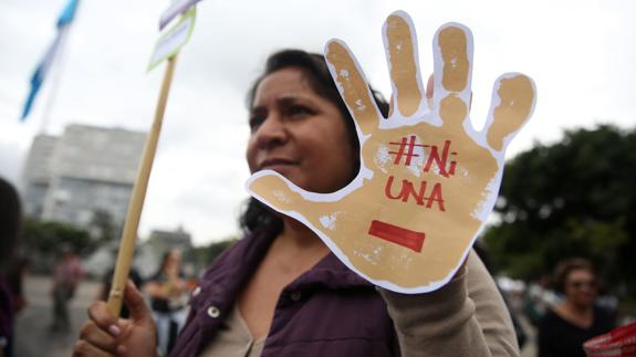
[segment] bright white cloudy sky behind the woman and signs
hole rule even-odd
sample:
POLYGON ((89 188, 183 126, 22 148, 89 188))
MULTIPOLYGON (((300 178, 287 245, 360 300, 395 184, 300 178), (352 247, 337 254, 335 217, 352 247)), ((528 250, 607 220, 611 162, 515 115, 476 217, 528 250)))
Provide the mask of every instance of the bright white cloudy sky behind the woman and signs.
MULTIPOLYGON (((145 69, 169 1, 84 0, 56 67, 56 90, 49 78, 29 120, 19 123, 29 78, 65 3, 0 1, 0 175, 17 183, 31 140, 42 129, 56 135, 81 123, 148 130, 154 115, 163 66, 145 69)), ((553 143, 569 128, 634 127, 635 1, 204 0, 177 63, 142 234, 183 225, 198 244, 234 234, 249 175, 244 92, 263 60, 284 48, 322 51, 329 39, 340 38, 388 96, 380 29, 398 9, 415 21, 426 73, 432 69, 438 27, 455 21, 472 30, 471 116, 478 127, 499 74, 515 71, 534 78, 534 117, 509 157, 534 141, 553 143)))

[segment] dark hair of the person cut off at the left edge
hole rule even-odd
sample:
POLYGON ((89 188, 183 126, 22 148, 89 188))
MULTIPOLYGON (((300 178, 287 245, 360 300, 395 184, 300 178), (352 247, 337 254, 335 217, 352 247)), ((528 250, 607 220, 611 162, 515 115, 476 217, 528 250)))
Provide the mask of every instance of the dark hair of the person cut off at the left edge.
POLYGON ((15 188, 0 178, 0 269, 13 256, 22 225, 22 209, 15 188))

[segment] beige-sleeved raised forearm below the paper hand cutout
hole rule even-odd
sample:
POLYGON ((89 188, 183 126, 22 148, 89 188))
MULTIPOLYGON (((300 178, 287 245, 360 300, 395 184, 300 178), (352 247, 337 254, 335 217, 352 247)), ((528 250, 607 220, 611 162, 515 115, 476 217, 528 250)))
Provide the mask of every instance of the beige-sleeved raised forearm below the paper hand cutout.
POLYGON ((403 356, 519 356, 503 298, 471 252, 444 287, 405 295, 380 290, 403 356))

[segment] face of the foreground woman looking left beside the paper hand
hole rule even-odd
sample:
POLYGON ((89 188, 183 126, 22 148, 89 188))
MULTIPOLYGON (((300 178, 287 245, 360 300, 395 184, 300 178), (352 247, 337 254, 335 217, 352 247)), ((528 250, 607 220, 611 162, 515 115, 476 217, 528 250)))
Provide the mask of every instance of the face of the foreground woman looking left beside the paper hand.
POLYGON ((265 76, 250 112, 247 159, 252 174, 271 169, 321 193, 343 188, 357 174, 345 119, 311 90, 300 69, 265 76))

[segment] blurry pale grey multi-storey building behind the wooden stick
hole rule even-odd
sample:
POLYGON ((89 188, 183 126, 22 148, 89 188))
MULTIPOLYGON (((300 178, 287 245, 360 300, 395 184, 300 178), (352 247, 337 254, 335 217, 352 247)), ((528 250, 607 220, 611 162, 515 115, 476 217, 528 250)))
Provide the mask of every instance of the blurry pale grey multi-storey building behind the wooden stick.
POLYGON ((92 228, 96 217, 124 224, 146 134, 70 125, 62 136, 37 136, 24 166, 24 212, 92 228))

